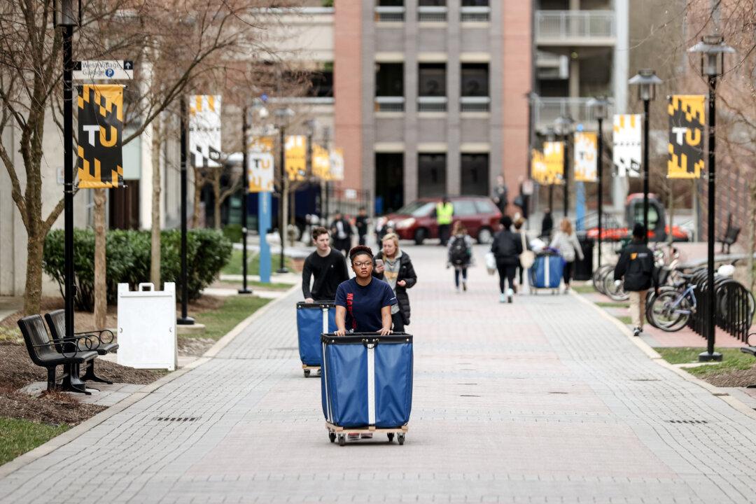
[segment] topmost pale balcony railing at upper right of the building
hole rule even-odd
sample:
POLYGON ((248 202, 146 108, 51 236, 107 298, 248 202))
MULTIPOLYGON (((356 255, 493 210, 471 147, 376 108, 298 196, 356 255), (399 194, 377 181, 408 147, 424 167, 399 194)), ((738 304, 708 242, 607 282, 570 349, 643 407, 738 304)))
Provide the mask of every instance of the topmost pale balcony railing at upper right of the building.
POLYGON ((535 40, 541 45, 614 44, 615 14, 612 11, 537 11, 535 40))

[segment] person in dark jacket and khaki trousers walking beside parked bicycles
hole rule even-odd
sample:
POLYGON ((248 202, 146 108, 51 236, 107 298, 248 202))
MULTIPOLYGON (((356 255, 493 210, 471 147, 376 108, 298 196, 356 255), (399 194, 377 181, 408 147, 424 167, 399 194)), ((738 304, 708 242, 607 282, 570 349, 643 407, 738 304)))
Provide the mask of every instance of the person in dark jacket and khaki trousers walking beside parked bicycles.
POLYGON ((633 335, 643 332, 646 318, 646 295, 655 287, 654 255, 643 243, 646 227, 635 224, 633 240, 622 250, 615 266, 615 282, 624 280, 624 290, 630 293, 630 315, 633 320, 633 335))

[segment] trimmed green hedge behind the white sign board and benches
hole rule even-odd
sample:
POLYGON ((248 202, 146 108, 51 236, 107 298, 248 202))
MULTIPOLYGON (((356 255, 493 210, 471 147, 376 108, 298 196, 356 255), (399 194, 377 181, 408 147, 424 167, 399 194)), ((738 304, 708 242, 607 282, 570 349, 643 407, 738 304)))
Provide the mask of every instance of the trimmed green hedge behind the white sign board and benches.
MULTIPOLYGON (((175 282, 181 286, 181 231, 162 231, 160 238, 160 277, 163 282, 175 282)), ((73 232, 73 264, 76 271, 77 310, 92 311, 95 308, 95 232, 91 229, 76 229, 73 232)), ((107 302, 115 304, 118 284, 129 283, 134 289, 141 282, 150 280, 150 231, 108 230, 106 237, 107 256, 107 302)), ((231 242, 218 230, 193 229, 187 232, 187 264, 189 275, 189 298, 197 299, 200 291, 209 286, 220 274, 222 267, 231 258, 231 242)), ((45 252, 42 268, 57 280, 60 293, 64 286, 64 233, 52 230, 45 237, 45 252)), ((160 289, 160 286, 156 286, 160 289)))

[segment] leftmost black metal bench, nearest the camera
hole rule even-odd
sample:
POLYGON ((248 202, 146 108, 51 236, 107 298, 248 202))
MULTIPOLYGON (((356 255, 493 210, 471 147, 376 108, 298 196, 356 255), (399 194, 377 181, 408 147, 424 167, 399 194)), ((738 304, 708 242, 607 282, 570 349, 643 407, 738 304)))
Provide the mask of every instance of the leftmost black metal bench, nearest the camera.
POLYGON ((80 348, 81 345, 91 347, 91 339, 88 336, 63 338, 54 342, 48 335, 42 315, 23 317, 18 321, 18 327, 21 329, 26 351, 29 352, 32 362, 47 369, 48 391, 63 390, 91 394, 76 371, 79 365, 95 360, 98 356, 94 350, 82 351, 80 348), (57 366, 64 366, 60 385, 56 376, 57 366))

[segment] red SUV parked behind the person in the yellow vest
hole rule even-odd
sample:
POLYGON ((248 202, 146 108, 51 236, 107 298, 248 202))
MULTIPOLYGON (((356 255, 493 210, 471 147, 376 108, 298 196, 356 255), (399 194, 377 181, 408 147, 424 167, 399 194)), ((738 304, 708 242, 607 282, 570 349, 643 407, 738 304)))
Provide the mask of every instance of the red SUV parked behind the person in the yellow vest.
MULTIPOLYGON (((501 218, 494 202, 485 196, 451 196, 449 200, 454 205, 454 221, 462 221, 467 233, 479 243, 490 243, 501 218)), ((393 227, 402 240, 415 240, 422 245, 428 238, 438 238, 435 206, 440 201, 440 197, 417 199, 379 218, 376 228, 393 227)))

